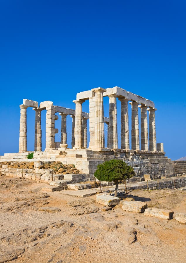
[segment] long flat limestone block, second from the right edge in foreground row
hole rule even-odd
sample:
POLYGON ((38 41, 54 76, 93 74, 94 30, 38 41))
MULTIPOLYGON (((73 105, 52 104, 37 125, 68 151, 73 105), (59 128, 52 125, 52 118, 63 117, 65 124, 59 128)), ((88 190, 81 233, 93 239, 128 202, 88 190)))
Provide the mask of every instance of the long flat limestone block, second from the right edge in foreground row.
POLYGON ((148 209, 145 209, 144 214, 146 216, 158 217, 162 219, 172 219, 174 212, 171 210, 166 210, 166 209, 148 208, 148 209))

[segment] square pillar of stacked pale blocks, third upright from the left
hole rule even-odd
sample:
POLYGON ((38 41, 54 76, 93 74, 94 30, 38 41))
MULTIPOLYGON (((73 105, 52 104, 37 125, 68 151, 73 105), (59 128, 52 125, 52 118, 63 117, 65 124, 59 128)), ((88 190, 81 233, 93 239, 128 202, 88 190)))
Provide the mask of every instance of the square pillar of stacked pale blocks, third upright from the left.
POLYGON ((54 106, 46 107, 46 148, 45 151, 55 149, 55 109, 54 106))

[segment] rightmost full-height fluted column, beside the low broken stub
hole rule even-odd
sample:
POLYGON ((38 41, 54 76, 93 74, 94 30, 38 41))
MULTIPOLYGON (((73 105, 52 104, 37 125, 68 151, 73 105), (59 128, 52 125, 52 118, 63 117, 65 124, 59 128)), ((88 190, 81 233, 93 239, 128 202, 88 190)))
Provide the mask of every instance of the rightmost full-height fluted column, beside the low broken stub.
POLYGON ((149 111, 149 150, 156 151, 156 125, 155 108, 148 108, 149 111))

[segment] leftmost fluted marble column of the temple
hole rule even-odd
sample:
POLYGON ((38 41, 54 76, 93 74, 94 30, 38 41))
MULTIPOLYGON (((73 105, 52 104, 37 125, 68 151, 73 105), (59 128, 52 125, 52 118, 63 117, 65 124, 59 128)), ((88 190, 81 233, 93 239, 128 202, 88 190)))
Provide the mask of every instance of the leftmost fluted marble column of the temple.
POLYGON ((27 151, 27 124, 26 109, 28 106, 21 104, 20 106, 20 129, 19 129, 19 152, 27 151))

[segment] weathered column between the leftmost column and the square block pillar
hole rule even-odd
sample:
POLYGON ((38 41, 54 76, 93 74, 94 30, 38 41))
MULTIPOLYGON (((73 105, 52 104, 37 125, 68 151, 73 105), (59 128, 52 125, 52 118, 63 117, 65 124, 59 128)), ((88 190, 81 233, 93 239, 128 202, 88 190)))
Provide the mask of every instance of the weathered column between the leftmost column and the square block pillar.
POLYGON ((34 150, 41 151, 41 108, 34 108, 35 110, 35 141, 34 150))

